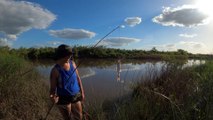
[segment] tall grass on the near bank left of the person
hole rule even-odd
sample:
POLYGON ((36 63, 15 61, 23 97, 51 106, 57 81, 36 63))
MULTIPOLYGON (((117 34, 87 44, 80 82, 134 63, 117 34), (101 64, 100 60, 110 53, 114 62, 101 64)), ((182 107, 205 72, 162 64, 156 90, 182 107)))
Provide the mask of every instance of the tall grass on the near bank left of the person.
POLYGON ((48 86, 33 65, 15 54, 0 53, 0 119, 42 119, 50 104, 48 86))

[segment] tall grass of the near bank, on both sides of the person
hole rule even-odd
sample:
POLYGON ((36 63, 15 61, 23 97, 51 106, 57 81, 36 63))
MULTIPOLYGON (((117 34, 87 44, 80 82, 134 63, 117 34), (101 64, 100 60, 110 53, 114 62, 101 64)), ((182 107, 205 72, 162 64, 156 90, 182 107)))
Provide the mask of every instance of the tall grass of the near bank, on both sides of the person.
MULTIPOLYGON (((182 68, 168 64, 160 74, 141 77, 131 95, 89 103, 92 120, 213 119, 213 62, 182 68)), ((51 106, 48 86, 32 63, 0 53, 0 119, 42 119, 51 106)), ((57 107, 48 119, 60 120, 57 107)))

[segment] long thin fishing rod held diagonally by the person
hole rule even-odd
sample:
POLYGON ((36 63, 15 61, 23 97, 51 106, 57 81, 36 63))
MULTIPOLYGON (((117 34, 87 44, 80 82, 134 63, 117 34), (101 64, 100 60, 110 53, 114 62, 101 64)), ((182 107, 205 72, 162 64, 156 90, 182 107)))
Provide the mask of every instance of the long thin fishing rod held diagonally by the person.
MULTIPOLYGON (((107 33, 104 37, 102 37, 92 48, 97 47, 98 44, 99 44, 101 41, 103 41, 107 36, 109 36, 110 34, 112 34, 115 30, 117 30, 118 28, 123 28, 123 27, 124 27, 123 25, 118 25, 117 27, 115 27, 114 29, 112 29, 109 33, 107 33)), ((71 74, 69 75, 69 77, 66 79, 66 81, 68 81, 68 80, 72 77, 72 75, 75 73, 75 71, 77 70, 77 68, 78 68, 83 62, 84 62, 84 61, 82 60, 81 62, 79 62, 78 65, 76 65, 75 69, 72 71, 72 73, 71 73, 71 74)), ((44 118, 43 120, 46 120, 46 119, 47 119, 47 117, 48 117, 50 111, 52 110, 52 108, 53 108, 53 106, 54 106, 54 104, 55 104, 55 103, 53 103, 53 104, 51 105, 51 107, 49 108, 49 110, 48 110, 48 112, 47 112, 47 114, 46 114, 46 116, 45 116, 45 118, 44 118)))

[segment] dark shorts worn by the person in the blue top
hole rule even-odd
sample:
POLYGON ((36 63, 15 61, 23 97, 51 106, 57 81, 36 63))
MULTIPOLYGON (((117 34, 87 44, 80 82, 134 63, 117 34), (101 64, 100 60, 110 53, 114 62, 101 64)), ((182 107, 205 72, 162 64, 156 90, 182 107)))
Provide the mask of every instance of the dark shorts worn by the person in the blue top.
POLYGON ((82 100, 81 93, 77 93, 73 96, 59 96, 58 105, 67 105, 70 103, 76 103, 82 100))

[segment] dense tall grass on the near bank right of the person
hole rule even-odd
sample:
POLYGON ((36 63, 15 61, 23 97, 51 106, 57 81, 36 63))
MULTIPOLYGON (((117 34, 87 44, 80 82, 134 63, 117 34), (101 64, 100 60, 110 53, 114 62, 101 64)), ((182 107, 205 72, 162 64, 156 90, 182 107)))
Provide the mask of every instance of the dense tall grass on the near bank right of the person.
POLYGON ((212 71, 213 62, 184 69, 170 64, 160 75, 143 77, 144 82, 133 87, 132 95, 108 101, 107 106, 103 103, 99 107, 102 112, 94 117, 98 120, 211 120, 212 71))

